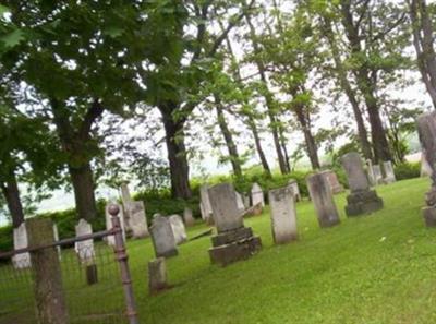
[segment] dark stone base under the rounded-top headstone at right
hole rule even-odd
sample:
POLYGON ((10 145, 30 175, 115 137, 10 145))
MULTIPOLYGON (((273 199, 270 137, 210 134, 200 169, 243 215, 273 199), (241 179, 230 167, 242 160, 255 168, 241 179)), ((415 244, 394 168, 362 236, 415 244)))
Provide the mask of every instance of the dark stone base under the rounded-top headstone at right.
POLYGON ((347 216, 370 214, 383 208, 383 200, 375 190, 362 190, 352 192, 347 196, 347 216))

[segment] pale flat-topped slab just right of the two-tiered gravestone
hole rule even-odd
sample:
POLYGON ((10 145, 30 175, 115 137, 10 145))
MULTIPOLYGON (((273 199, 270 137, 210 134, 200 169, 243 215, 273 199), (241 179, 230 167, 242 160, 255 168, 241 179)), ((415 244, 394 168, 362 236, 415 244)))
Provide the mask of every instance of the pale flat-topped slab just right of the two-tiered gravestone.
POLYGON ((282 244, 296 240, 296 211, 292 189, 284 187, 270 190, 268 197, 274 242, 282 244))

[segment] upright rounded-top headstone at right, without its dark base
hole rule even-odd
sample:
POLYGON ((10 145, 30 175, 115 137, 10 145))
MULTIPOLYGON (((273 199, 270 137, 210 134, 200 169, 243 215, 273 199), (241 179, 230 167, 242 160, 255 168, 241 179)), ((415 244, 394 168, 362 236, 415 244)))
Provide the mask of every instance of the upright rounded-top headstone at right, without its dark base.
POLYGON ((359 153, 350 152, 342 156, 342 166, 346 169, 348 184, 351 191, 370 189, 368 180, 362 166, 359 153))

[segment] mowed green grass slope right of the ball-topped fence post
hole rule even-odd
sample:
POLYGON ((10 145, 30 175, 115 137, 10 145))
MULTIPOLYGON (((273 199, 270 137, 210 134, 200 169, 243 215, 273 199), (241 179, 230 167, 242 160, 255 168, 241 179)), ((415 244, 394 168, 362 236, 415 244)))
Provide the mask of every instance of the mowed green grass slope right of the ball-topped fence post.
MULTIPOLYGON (((299 241, 274 245, 269 212, 245 219, 263 250, 228 267, 211 265, 208 237, 179 247, 167 261, 172 289, 149 296, 150 240, 129 242, 141 323, 436 323, 436 230, 421 207, 428 179, 378 187, 385 208, 317 225, 313 205, 298 203, 299 241)), ((192 237, 206 227, 191 228, 192 237)))

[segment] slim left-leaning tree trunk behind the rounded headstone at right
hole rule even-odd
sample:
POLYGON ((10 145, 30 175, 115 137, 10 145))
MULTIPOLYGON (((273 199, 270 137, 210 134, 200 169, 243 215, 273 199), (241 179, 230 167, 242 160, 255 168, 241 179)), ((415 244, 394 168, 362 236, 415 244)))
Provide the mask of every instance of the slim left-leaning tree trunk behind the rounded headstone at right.
POLYGON ((342 60, 340 58, 340 53, 339 53, 338 46, 336 44, 335 35, 331 29, 331 22, 327 17, 324 17, 324 22, 325 22, 324 23, 325 35, 327 36, 327 40, 330 45, 331 53, 332 53, 335 65, 336 65, 335 70, 337 72, 339 84, 340 84, 341 88, 343 89, 343 92, 346 93, 346 95, 350 101, 351 108, 353 109, 354 120, 358 125, 359 141, 361 143, 363 156, 365 157, 365 159, 373 160, 373 152, 371 149, 371 143, 368 141, 365 122, 362 117, 362 111, 359 107, 355 92, 351 87, 351 84, 347 77, 346 68, 343 67, 342 60))

